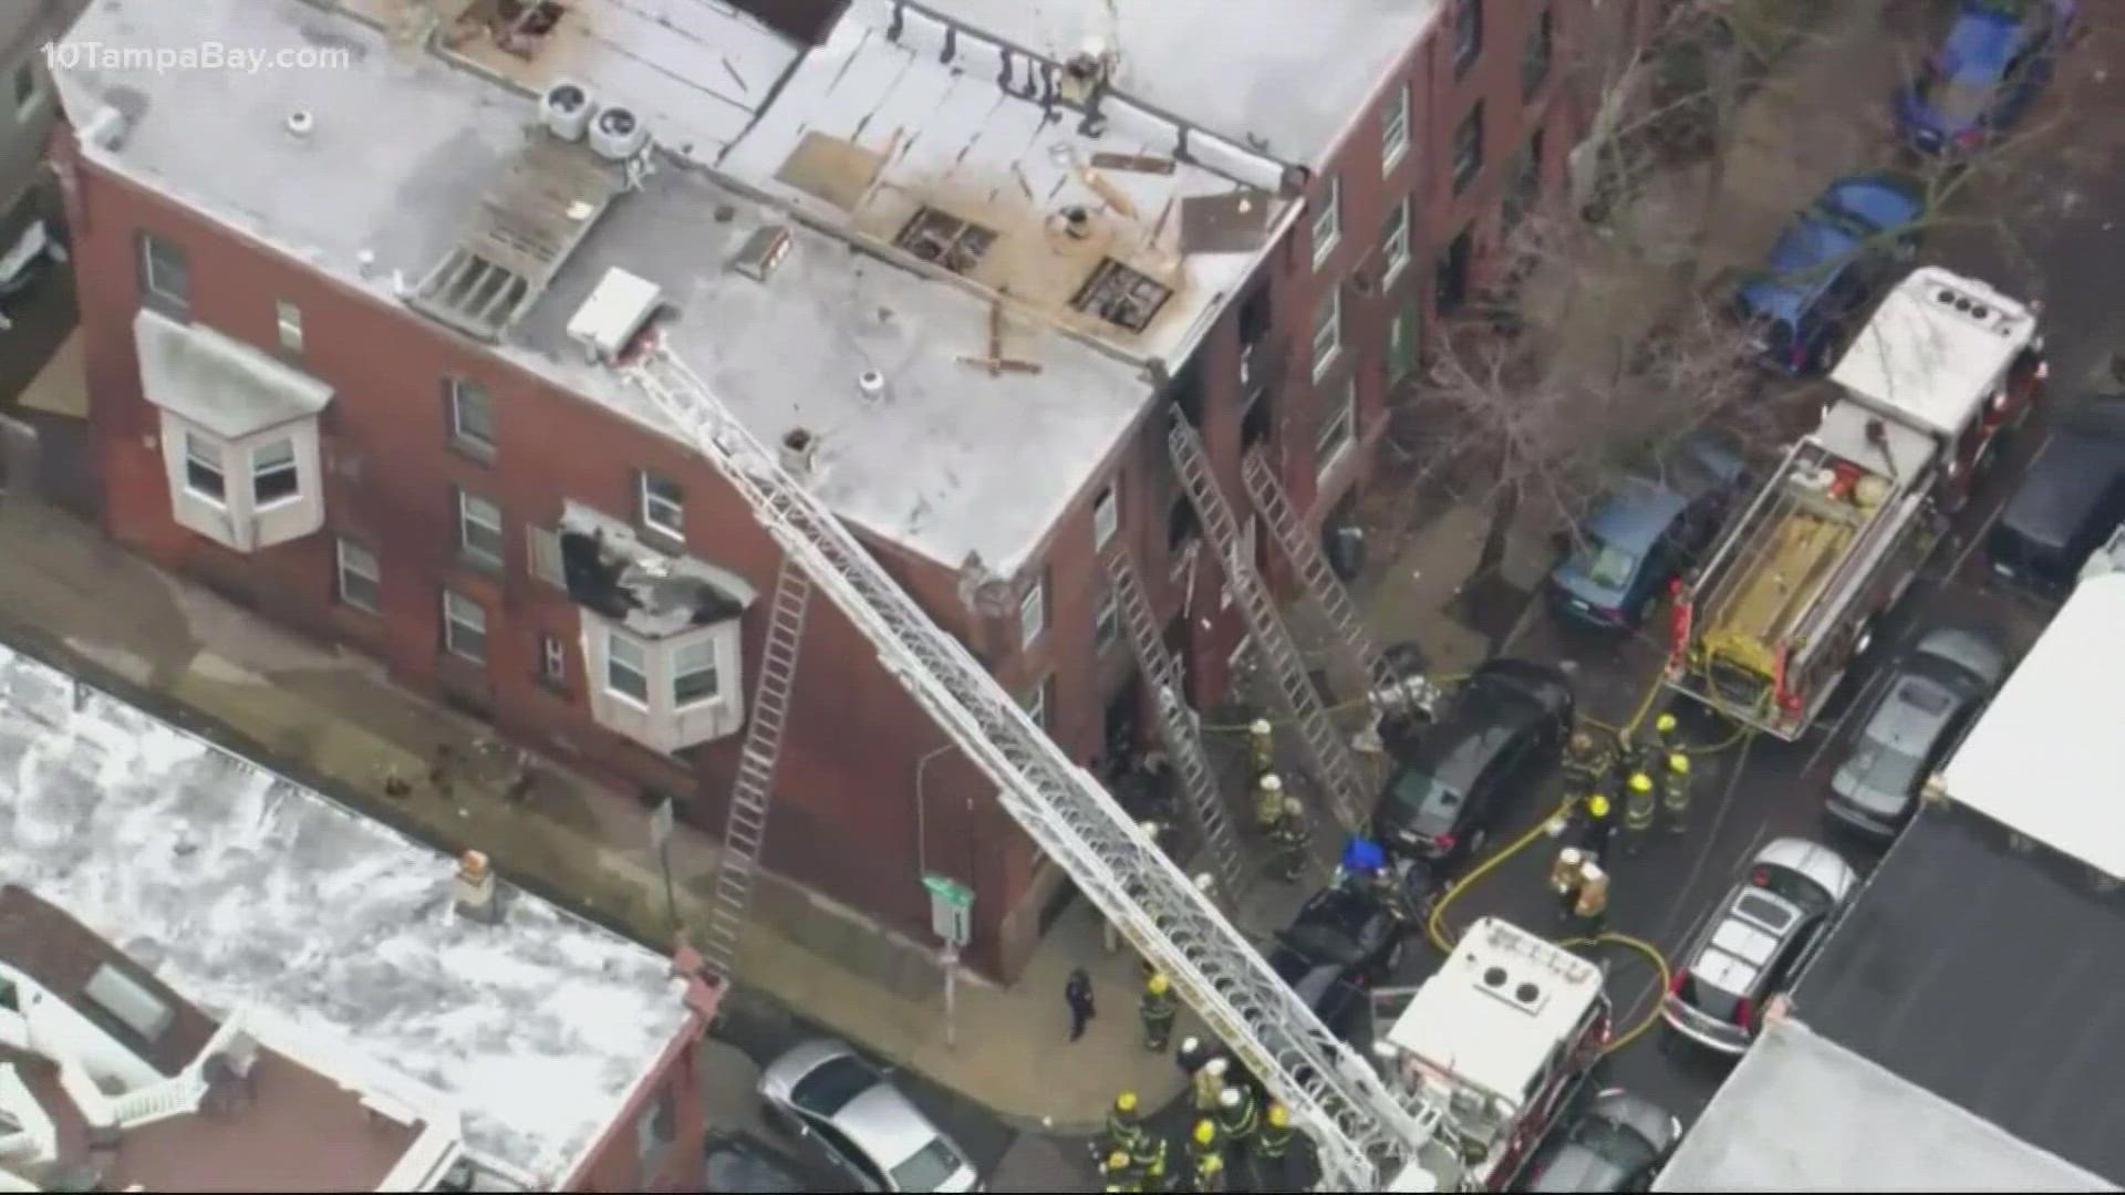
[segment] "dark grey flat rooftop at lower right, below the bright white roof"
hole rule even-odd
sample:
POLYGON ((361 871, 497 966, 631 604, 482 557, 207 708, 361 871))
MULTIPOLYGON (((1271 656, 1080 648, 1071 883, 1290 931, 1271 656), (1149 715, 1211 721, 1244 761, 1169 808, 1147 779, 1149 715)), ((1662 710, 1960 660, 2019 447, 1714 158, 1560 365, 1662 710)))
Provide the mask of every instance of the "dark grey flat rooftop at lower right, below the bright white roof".
POLYGON ((2006 840, 1970 810, 1923 808, 1808 965, 1794 1016, 2125 1182, 2125 904, 2070 859, 2006 840))

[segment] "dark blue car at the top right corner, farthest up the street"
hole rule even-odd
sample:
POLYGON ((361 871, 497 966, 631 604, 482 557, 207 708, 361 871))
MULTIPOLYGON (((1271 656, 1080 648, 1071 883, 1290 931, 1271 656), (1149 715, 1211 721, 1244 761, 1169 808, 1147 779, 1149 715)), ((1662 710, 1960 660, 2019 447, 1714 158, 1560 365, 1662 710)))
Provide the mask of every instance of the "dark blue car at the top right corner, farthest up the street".
POLYGON ((2074 23, 2074 0, 1964 0, 1949 36, 1896 96, 1919 153, 1970 153, 2042 91, 2074 23))

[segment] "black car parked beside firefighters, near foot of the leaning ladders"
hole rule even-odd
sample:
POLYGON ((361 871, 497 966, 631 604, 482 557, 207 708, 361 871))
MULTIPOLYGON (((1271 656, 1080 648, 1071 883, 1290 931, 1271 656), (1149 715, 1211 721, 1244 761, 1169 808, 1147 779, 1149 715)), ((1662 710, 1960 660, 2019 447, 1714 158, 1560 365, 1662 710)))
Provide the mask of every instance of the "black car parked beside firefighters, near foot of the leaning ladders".
POLYGON ((1558 668, 1492 659, 1407 748, 1373 814, 1373 838, 1439 872, 1483 851, 1500 806, 1556 763, 1572 721, 1558 668))

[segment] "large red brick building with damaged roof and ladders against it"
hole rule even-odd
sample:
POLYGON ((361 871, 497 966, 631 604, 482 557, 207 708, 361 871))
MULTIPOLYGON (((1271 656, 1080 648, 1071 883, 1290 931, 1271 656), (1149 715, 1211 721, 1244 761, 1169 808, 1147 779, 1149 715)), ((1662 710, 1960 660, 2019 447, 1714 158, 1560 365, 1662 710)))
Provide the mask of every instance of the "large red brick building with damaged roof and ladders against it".
MULTIPOLYGON (((57 81, 106 527, 720 827, 776 551, 586 361, 586 306, 638 302, 1094 763, 1143 704, 1101 553, 1196 704, 1243 638, 1169 410, 1241 502, 1243 444, 1315 521, 1362 485, 1424 321, 1564 151, 1583 4, 1324 0, 1305 38, 1128 6, 1171 9, 1260 79, 1190 79, 1216 47, 1173 17, 1086 53, 1001 0, 852 0, 816 45, 716 4, 94 4, 76 38, 293 64, 57 81)), ((950 874, 1012 976, 1062 878, 946 744, 814 604, 769 865, 914 936, 950 874)))

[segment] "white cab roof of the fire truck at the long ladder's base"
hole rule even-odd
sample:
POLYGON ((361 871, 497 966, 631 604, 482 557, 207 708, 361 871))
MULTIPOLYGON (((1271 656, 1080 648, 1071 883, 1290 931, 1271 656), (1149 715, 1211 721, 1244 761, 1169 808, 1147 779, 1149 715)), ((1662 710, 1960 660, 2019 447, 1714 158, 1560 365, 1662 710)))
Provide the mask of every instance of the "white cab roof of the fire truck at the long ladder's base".
POLYGON ((1600 967, 1485 916, 1424 980, 1388 1042, 1458 1082, 1519 1101, 1598 999, 1600 967))

